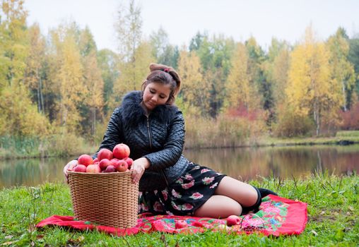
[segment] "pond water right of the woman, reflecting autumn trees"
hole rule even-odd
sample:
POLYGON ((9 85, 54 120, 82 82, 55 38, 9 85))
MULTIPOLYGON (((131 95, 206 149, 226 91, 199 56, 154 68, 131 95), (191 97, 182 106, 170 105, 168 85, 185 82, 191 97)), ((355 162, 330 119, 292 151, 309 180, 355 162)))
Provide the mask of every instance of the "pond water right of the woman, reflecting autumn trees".
POLYGON ((347 174, 359 168, 359 145, 186 150, 193 162, 242 180, 257 176, 290 178, 328 170, 347 174))

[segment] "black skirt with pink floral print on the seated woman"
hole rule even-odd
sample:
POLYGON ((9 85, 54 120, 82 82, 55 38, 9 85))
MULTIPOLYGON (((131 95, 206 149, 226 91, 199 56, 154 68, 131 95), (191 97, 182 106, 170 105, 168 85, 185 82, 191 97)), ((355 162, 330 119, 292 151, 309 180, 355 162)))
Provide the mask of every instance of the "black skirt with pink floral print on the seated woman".
POLYGON ((139 193, 139 213, 193 215, 210 198, 226 176, 208 167, 189 163, 184 174, 163 190, 139 193))

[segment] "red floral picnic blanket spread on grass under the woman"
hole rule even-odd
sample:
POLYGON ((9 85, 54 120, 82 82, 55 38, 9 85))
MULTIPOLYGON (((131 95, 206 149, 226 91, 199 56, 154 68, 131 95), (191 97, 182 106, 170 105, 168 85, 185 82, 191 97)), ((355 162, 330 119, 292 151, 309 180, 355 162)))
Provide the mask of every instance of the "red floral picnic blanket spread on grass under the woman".
POLYGON ((139 215, 136 227, 120 229, 76 220, 71 216, 53 215, 39 222, 36 227, 56 225, 78 230, 104 231, 117 236, 138 234, 139 232, 150 233, 153 231, 172 234, 193 234, 208 231, 208 229, 238 234, 260 232, 266 236, 292 235, 300 234, 305 229, 305 224, 307 224, 307 203, 281 198, 276 195, 268 195, 266 198, 263 198, 260 210, 256 214, 243 215, 241 217, 242 220, 239 225, 225 227, 225 219, 142 214, 139 215), (185 220, 187 227, 176 229, 175 222, 179 219, 185 220))

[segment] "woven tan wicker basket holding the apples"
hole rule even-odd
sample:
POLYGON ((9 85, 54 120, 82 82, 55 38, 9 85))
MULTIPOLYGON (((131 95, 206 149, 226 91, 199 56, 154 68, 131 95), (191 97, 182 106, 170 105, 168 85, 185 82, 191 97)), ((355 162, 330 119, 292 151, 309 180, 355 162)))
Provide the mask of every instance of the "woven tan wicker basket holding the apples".
POLYGON ((139 183, 132 183, 132 171, 68 174, 77 219, 110 227, 136 226, 139 183))

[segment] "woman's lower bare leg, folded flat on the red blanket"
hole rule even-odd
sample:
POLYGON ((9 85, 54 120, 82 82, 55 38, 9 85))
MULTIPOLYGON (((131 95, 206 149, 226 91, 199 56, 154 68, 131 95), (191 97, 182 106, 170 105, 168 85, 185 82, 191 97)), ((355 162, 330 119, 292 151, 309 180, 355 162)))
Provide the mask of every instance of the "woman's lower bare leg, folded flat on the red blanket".
POLYGON ((225 195, 212 195, 204 205, 201 205, 201 207, 194 212, 194 216, 218 219, 230 215, 240 215, 241 213, 241 205, 232 198, 225 195))

